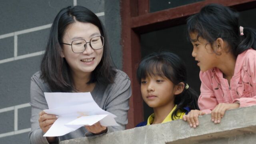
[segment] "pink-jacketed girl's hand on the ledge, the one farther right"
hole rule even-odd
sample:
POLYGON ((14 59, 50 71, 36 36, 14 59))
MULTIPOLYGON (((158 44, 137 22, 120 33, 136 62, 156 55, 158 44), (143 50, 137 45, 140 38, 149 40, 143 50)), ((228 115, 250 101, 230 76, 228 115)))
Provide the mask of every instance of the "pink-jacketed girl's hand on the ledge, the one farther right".
POLYGON ((212 122, 215 124, 220 123, 220 119, 223 118, 226 110, 239 108, 239 103, 227 104, 220 103, 212 110, 212 122))

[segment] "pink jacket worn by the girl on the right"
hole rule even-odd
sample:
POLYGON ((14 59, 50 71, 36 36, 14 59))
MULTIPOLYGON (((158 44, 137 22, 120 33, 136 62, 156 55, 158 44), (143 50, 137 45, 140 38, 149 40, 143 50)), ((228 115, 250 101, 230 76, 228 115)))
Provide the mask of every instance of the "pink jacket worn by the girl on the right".
POLYGON ((246 50, 238 55, 234 76, 223 78, 218 68, 200 72, 200 110, 210 114, 219 103, 239 102, 240 107, 256 105, 256 50, 246 50))

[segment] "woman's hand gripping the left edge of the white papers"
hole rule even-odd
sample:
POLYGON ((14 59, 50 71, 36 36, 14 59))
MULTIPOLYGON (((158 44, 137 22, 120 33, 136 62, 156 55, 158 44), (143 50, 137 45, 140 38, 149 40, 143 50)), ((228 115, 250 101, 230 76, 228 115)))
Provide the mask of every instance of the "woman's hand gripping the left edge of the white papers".
MULTIPOLYGON (((52 124, 57 120, 57 116, 53 114, 46 114, 44 111, 39 113, 39 126, 44 133, 46 133, 52 124)), ((56 139, 55 137, 46 137, 48 142, 54 142, 56 139)))

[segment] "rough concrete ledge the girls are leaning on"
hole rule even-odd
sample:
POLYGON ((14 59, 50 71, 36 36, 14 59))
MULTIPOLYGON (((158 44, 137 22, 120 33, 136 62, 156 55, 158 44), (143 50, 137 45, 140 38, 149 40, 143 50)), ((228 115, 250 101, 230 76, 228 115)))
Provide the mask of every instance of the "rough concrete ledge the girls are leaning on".
POLYGON ((96 138, 76 138, 60 144, 255 144, 256 106, 228 110, 220 124, 210 114, 190 128, 183 120, 112 132, 96 138))

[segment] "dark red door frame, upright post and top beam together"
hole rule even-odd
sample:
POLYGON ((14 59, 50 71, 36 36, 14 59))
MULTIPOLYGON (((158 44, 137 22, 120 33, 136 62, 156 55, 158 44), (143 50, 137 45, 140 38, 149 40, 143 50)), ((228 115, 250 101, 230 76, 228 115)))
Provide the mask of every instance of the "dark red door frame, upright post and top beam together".
POLYGON ((140 34, 184 24, 188 16, 210 3, 232 6, 237 10, 256 8, 256 0, 204 0, 176 8, 149 13, 149 0, 121 0, 123 70, 131 79, 132 97, 127 128, 143 120, 143 100, 136 69, 141 60, 140 34))

